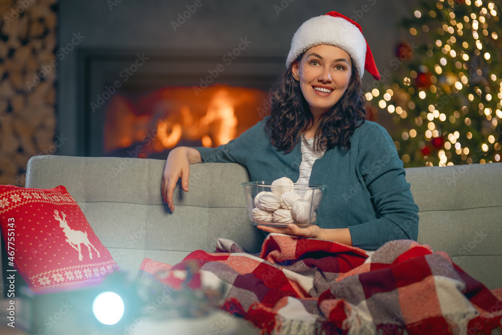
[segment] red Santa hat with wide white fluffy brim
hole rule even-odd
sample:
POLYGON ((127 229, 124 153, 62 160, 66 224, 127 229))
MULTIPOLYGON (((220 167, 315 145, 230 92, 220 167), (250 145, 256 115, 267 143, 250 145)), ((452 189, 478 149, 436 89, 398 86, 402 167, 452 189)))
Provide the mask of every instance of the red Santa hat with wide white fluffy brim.
POLYGON ((380 80, 373 54, 362 36, 361 26, 337 12, 307 20, 298 28, 291 41, 286 67, 302 52, 319 44, 334 45, 348 53, 361 78, 366 69, 376 80, 380 80))

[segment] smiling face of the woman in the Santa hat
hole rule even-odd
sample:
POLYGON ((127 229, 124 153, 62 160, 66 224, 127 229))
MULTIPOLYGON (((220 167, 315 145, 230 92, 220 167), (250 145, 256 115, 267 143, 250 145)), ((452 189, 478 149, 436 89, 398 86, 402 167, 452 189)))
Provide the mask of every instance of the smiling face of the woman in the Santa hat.
POLYGON ((295 61, 292 72, 293 77, 300 82, 312 115, 318 119, 347 90, 352 62, 342 49, 321 44, 308 49, 300 62, 295 61))

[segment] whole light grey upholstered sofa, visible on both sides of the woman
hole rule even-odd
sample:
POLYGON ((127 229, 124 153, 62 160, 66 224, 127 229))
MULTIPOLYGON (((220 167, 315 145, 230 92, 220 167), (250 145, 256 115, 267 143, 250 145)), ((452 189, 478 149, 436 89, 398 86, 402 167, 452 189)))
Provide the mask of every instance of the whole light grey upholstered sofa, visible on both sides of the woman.
MULTIPOLYGON (((188 193, 175 190, 175 210, 160 185, 165 161, 35 156, 26 187, 64 185, 119 266, 136 275, 145 257, 174 264, 189 252, 214 251, 231 239, 256 252, 263 234, 249 224, 238 164, 190 166, 188 193)), ((420 208, 420 243, 445 251, 488 288, 502 287, 502 163, 406 169, 420 208)))

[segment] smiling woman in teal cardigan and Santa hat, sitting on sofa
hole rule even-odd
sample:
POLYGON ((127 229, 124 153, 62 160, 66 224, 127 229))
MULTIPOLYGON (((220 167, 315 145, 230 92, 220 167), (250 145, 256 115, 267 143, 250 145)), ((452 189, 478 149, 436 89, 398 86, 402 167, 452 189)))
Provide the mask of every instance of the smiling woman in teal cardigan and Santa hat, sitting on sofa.
POLYGON ((418 207, 403 162, 380 125, 365 121, 361 77, 380 79, 360 26, 330 12, 312 18, 291 42, 287 69, 271 92, 271 116, 218 148, 179 147, 167 158, 162 195, 174 210, 179 178, 188 191, 189 164, 235 162, 251 180, 325 184, 318 225, 258 226, 269 233, 378 249, 418 237, 418 207))

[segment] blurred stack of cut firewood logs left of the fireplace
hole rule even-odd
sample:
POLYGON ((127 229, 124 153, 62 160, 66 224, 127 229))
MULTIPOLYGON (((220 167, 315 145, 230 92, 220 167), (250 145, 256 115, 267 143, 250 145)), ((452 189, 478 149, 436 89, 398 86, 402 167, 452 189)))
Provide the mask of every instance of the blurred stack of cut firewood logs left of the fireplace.
POLYGON ((54 153, 57 0, 0 0, 0 184, 54 153))

